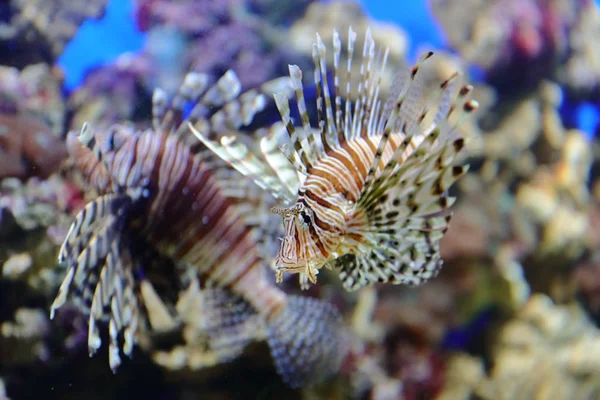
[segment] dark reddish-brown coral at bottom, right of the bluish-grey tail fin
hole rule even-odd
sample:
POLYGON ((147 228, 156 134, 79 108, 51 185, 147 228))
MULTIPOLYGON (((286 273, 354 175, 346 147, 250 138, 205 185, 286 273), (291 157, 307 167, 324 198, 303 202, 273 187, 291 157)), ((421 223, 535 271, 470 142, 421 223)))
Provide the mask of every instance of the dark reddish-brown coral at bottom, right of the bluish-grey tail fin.
MULTIPOLYGON (((442 273, 444 275, 444 273, 442 273)), ((354 397, 433 398, 441 388, 444 361, 437 343, 457 324, 458 293, 433 280, 406 288, 363 289, 352 313, 357 340, 350 382, 354 397)))

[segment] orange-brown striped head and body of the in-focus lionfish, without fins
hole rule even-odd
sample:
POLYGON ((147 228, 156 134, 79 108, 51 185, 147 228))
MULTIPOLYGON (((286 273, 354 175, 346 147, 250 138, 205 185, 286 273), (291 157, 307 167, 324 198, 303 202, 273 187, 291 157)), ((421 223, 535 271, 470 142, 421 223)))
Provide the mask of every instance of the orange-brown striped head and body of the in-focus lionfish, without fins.
MULTIPOLYGON (((346 142, 314 165, 298 190, 297 200, 303 210, 310 210, 310 215, 304 217, 310 219, 310 223, 306 224, 304 220, 293 223, 292 218, 286 219, 284 245, 276 258, 277 265, 284 266, 288 272, 304 272, 306 263, 303 260, 322 265, 340 254, 363 250, 362 246, 368 240, 363 228, 369 222, 354 204, 364 188, 379 139, 368 137, 346 142), (288 243, 295 248, 288 250, 288 243), (295 256, 302 251, 305 254, 295 256)), ((381 168, 400 141, 399 135, 390 137, 381 157, 381 168)))

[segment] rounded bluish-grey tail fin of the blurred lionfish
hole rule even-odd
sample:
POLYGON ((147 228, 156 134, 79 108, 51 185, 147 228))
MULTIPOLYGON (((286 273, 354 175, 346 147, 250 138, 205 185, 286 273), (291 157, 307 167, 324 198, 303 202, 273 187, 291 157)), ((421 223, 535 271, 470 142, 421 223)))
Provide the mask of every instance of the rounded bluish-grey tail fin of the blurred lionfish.
POLYGON ((340 369, 349 350, 348 332, 329 303, 288 297, 268 321, 267 341, 277 372, 290 387, 310 386, 340 369))

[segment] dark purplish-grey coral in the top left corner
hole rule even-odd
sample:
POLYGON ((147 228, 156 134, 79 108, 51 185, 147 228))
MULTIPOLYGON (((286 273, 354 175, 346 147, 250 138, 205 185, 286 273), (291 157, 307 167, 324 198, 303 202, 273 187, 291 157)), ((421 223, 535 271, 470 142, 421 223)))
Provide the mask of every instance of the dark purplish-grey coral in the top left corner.
POLYGON ((79 26, 103 15, 107 0, 9 0, 0 16, 0 64, 53 64, 79 26))

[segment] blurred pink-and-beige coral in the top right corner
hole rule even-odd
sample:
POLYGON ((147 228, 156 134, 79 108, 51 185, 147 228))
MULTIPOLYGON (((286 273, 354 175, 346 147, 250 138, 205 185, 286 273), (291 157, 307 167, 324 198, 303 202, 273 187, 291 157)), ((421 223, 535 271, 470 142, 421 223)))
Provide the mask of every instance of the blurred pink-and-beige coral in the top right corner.
POLYGON ((498 89, 534 89, 552 78, 597 96, 600 20, 593 1, 430 0, 430 6, 450 46, 483 67, 498 89))

